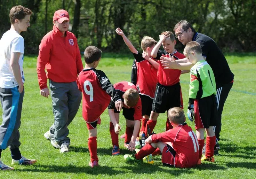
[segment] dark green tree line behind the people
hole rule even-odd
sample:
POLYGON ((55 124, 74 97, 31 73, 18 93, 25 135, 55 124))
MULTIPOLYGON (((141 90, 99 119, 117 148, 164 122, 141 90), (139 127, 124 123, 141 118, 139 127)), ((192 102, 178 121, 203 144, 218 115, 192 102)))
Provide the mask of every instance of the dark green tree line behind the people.
MULTIPOLYGON (((162 31, 173 31, 174 25, 186 19, 193 27, 210 36, 224 52, 255 51, 255 0, 0 0, 0 37, 10 28, 12 6, 32 10, 31 27, 21 35, 27 54, 37 54, 42 37, 52 30, 52 16, 65 9, 70 16, 70 29, 81 51, 95 45, 106 51, 126 51, 120 27, 140 49, 148 35, 159 40, 162 31)), ((177 42, 177 49, 184 46, 177 42)))

